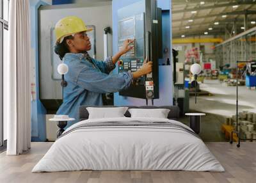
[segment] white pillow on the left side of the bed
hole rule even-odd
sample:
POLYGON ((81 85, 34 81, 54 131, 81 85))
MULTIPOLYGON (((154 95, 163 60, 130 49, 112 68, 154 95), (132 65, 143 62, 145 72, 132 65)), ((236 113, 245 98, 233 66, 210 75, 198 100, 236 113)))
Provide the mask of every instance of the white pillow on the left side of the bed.
POLYGON ((89 118, 120 118, 125 117, 124 114, 128 107, 86 107, 89 118))

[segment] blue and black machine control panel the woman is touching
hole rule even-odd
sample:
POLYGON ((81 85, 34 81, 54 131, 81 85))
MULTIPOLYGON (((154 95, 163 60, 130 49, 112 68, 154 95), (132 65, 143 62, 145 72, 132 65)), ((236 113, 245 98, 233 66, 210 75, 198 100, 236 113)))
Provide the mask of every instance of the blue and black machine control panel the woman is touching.
POLYGON ((162 40, 159 35, 161 16, 157 16, 157 12, 161 13, 159 8, 157 9, 156 0, 139 1, 118 10, 118 49, 122 48, 124 40, 135 39, 134 49, 118 61, 118 72, 135 72, 142 67, 146 56, 148 60, 153 61, 152 74, 136 79, 127 90, 119 92, 119 95, 159 99, 158 58, 161 56, 161 48, 158 45, 162 45, 162 40), (154 85, 150 88, 146 83, 154 85))

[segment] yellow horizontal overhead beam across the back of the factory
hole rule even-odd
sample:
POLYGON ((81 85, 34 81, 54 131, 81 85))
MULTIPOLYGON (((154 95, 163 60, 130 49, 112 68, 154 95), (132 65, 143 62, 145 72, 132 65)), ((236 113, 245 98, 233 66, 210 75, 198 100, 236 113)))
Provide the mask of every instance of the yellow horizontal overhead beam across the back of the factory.
POLYGON ((174 38, 172 44, 221 43, 222 38, 174 38))

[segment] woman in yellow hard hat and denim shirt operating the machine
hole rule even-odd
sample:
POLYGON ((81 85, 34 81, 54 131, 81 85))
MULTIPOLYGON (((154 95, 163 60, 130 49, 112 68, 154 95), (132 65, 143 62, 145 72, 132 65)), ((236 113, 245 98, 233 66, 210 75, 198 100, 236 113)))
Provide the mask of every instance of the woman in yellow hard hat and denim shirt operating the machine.
POLYGON ((69 115, 78 122, 79 106, 102 106, 102 93, 118 92, 128 88, 132 79, 152 72, 152 62, 144 63, 136 72, 109 74, 115 68, 120 56, 128 52, 133 40, 125 40, 124 47, 106 61, 97 61, 90 57, 87 51, 91 49, 90 39, 83 20, 78 17, 65 17, 57 22, 55 27, 55 52, 68 65, 65 75, 67 86, 64 89, 64 101, 57 115, 69 115))

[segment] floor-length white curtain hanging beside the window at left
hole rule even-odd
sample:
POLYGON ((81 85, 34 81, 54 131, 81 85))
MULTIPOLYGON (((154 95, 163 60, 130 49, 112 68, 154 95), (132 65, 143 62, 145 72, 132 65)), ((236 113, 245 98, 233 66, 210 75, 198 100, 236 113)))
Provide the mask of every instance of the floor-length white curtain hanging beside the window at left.
POLYGON ((8 61, 4 76, 7 152, 18 155, 31 145, 29 0, 10 1, 8 61))

